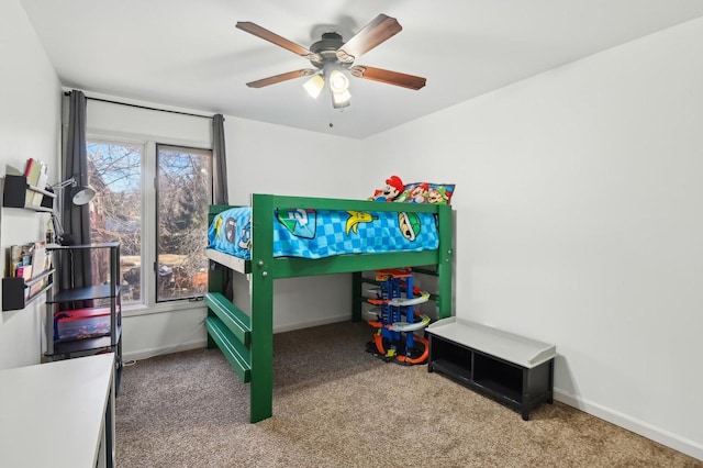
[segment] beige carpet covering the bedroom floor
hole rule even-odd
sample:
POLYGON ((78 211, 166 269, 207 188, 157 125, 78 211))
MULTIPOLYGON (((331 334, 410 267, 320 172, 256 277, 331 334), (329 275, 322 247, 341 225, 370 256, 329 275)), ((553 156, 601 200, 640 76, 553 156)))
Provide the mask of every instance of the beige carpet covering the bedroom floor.
POLYGON ((249 387, 216 349, 124 369, 120 468, 703 467, 565 404, 525 422, 471 390, 365 352, 341 323, 275 335, 274 417, 249 424, 249 387))

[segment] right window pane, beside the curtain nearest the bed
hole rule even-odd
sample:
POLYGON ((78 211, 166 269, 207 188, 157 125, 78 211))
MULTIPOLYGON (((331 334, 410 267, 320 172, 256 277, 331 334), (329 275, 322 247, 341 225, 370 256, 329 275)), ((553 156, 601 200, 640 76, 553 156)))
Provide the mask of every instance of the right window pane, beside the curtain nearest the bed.
POLYGON ((201 297, 208 289, 208 205, 212 152, 157 145, 157 301, 201 297))

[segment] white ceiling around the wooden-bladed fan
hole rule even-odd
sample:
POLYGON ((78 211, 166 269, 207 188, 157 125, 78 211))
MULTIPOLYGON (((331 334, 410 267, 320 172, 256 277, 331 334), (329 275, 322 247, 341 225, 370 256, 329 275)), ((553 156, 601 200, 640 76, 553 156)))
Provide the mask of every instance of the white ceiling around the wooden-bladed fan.
POLYGON ((355 138, 703 15, 701 0, 21 1, 66 87, 355 138), (425 88, 353 78, 352 105, 335 111, 305 78, 245 85, 310 63, 237 21, 310 47, 379 13, 403 31, 355 65, 426 77, 425 88))

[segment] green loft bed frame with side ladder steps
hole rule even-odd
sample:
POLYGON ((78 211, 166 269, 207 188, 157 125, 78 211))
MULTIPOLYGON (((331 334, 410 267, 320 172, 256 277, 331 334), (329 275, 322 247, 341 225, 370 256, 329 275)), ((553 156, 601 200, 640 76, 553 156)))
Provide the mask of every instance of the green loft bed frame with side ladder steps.
MULTIPOLYGON (((209 222, 232 207, 211 205, 209 222)), ((217 346, 249 389, 250 422, 272 415, 274 394, 274 280, 315 275, 360 272, 383 268, 436 266, 437 317, 451 315, 453 215, 450 205, 382 203, 272 194, 252 196, 252 260, 208 248, 211 260, 205 327, 208 347, 217 346), (439 230, 436 250, 349 254, 320 259, 274 257, 275 210, 314 209, 435 213, 439 230), (250 275, 250 315, 225 298, 226 270, 250 275)), ((360 274, 354 275, 353 320, 361 320, 360 274)))

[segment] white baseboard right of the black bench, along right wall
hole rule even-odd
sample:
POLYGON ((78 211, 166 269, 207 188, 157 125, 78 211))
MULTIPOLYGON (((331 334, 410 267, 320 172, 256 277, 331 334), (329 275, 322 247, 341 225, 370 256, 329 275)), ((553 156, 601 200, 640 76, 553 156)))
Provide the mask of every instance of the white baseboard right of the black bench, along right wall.
POLYGON ((603 421, 607 421, 609 423, 613 423, 627 431, 634 432, 635 434, 639 434, 643 437, 647 437, 650 441, 658 442, 659 444, 666 445, 667 447, 673 448, 674 450, 681 452, 690 457, 703 460, 703 445, 685 437, 681 437, 669 431, 656 427, 651 424, 645 423, 644 421, 639 421, 601 404, 584 400, 558 388, 554 389, 554 399, 563 404, 576 408, 577 410, 581 410, 584 413, 600 417, 603 421))

